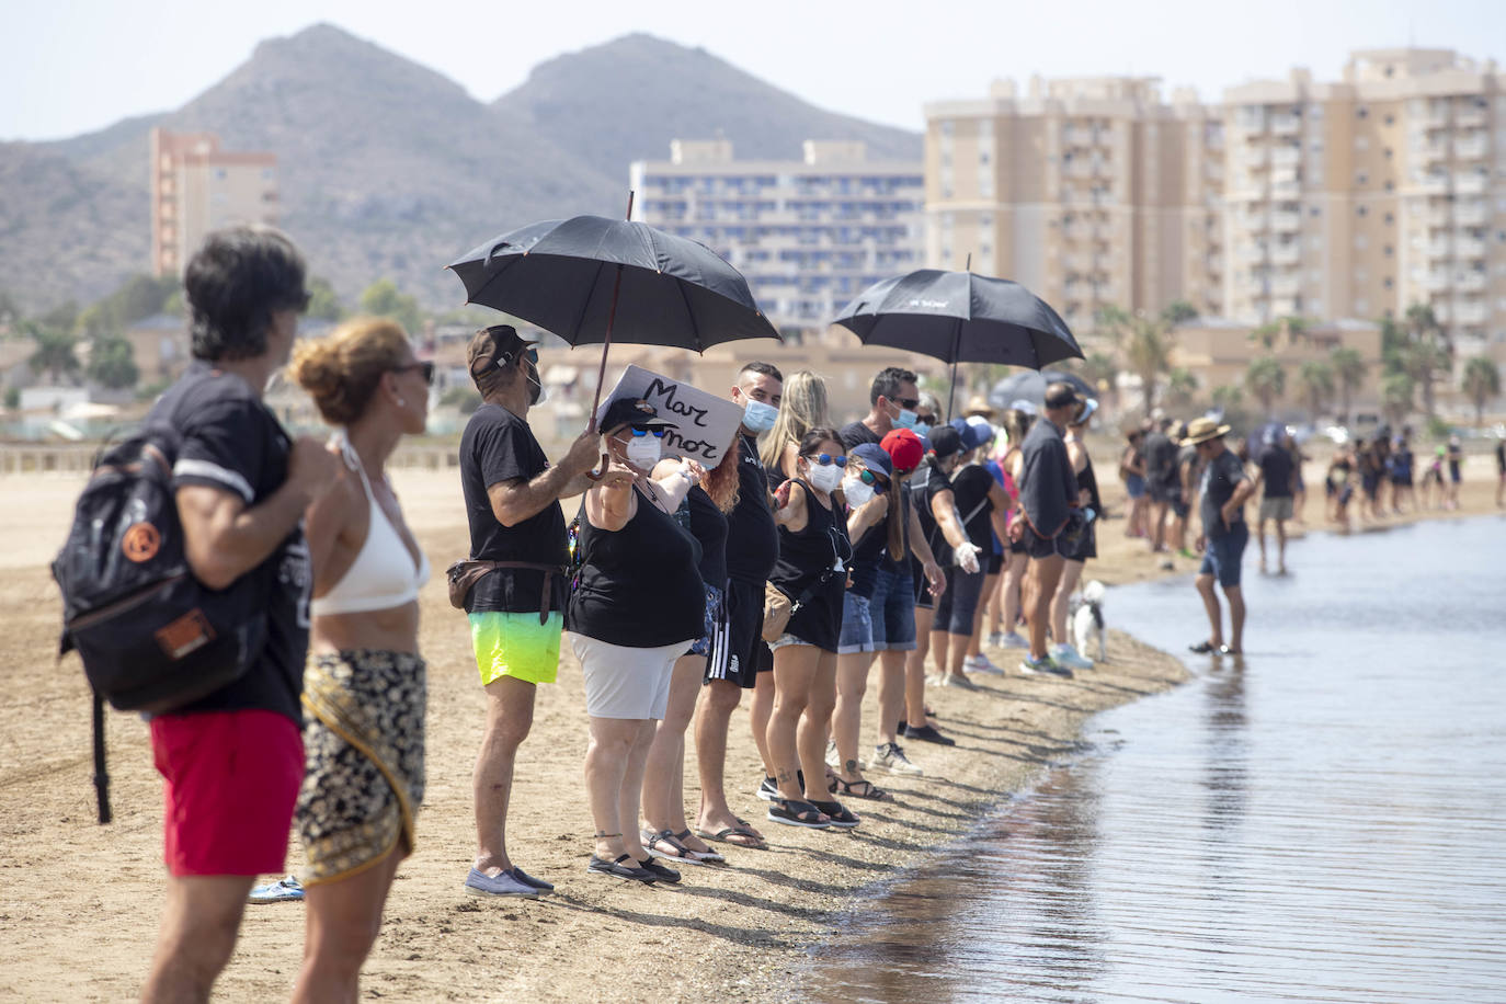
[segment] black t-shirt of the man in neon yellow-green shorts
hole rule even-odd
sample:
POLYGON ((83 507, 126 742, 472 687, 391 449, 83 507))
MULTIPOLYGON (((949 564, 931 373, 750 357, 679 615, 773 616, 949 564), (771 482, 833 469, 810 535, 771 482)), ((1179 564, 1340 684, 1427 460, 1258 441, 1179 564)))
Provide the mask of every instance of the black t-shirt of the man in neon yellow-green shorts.
MULTIPOLYGON (((550 503, 523 522, 505 527, 491 509, 486 489, 512 480, 530 480, 548 470, 544 447, 529 423, 501 405, 482 405, 461 435, 461 491, 470 521, 471 558, 532 561, 565 567, 565 510, 550 503)), ((467 599, 468 611, 536 613, 544 593, 544 572, 498 569, 480 578, 467 599)), ((568 583, 554 577, 550 610, 563 610, 568 583)))

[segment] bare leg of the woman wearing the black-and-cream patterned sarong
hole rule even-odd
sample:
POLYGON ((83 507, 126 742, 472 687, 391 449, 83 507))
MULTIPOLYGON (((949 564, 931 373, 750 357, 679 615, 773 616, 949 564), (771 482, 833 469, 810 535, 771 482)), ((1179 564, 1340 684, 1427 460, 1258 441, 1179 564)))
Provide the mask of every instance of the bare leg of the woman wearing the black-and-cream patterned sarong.
POLYGON ((360 999, 361 965, 376 944, 383 908, 402 858, 402 849, 393 847, 364 872, 304 890, 307 915, 303 969, 292 992, 295 1004, 360 999))

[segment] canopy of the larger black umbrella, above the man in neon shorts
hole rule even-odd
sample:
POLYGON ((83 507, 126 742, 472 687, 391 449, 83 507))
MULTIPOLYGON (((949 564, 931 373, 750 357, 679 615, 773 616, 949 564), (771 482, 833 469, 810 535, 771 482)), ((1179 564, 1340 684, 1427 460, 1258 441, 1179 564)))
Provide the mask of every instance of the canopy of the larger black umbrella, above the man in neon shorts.
POLYGON ((697 352, 780 337, 738 269, 706 245, 646 223, 544 220, 447 268, 465 283, 467 303, 530 321, 571 345, 607 342, 608 328, 611 342, 697 352))

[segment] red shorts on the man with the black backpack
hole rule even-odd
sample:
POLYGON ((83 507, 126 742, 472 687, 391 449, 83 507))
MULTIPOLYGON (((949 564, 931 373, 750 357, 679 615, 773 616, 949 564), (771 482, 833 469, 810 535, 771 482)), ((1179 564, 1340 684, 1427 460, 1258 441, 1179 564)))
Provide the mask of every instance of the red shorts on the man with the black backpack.
POLYGON ((280 875, 303 784, 303 735, 271 710, 152 720, 172 875, 280 875))

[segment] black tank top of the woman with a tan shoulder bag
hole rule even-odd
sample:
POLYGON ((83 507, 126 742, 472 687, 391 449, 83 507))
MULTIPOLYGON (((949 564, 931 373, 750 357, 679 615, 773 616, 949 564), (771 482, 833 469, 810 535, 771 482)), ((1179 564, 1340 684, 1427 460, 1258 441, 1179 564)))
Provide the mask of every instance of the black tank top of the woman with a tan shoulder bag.
POLYGON ((800 599, 810 590, 785 631, 819 649, 836 652, 842 628, 842 593, 846 592, 846 569, 852 561, 846 522, 816 501, 804 482, 794 482, 791 491, 806 492, 806 525, 798 531, 779 528, 779 560, 768 581, 791 599, 800 599))

